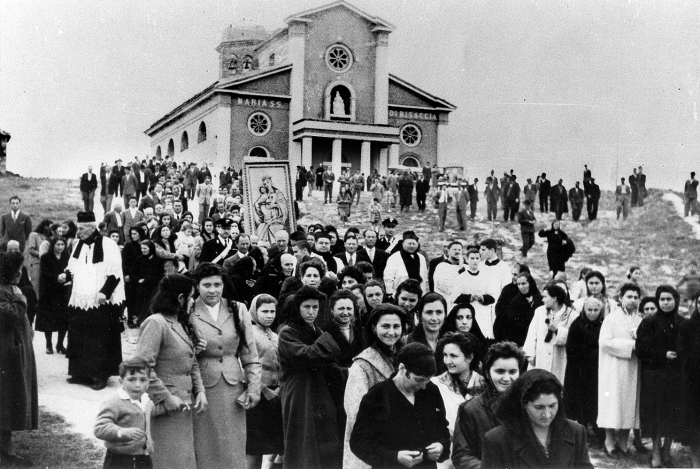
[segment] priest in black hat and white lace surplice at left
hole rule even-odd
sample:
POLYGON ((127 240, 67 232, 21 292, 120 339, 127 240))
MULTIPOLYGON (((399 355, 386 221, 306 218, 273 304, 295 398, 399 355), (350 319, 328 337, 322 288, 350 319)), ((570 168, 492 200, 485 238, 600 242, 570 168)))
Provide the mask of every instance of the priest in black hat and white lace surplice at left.
POLYGON ((97 231, 93 212, 78 213, 78 239, 68 272, 59 275, 59 281, 73 281, 68 302, 68 381, 100 390, 118 373, 122 361, 122 259, 117 243, 97 231))

